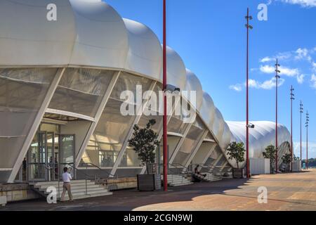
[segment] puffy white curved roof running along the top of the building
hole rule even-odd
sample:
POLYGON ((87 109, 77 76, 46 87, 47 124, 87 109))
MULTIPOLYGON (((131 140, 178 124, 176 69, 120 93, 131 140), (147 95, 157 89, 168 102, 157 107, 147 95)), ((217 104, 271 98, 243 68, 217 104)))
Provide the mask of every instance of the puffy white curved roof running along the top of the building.
MULTIPOLYGON (((51 0, 0 1, 0 66, 110 68, 162 82, 162 46, 150 28, 121 18, 100 0, 55 0, 57 21, 48 21, 48 4, 51 0)), ((230 140, 244 141, 244 123, 225 123, 197 76, 185 69, 182 58, 170 47, 167 83, 180 90, 197 91, 199 115, 223 152, 230 140)), ((251 148, 256 156, 258 149, 272 143, 274 126, 272 122, 254 124, 251 148)), ((279 140, 289 140, 289 132, 282 125, 279 140)))

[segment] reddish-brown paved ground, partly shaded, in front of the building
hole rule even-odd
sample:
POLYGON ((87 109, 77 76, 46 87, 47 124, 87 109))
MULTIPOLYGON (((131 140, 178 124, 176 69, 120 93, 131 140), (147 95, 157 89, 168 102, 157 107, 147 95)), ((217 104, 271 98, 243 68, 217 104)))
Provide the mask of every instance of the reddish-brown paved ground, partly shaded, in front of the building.
POLYGON ((51 205, 33 200, 10 203, 1 210, 316 210, 316 169, 173 187, 167 193, 124 190, 51 205), (259 187, 267 188, 266 204, 258 203, 259 187))

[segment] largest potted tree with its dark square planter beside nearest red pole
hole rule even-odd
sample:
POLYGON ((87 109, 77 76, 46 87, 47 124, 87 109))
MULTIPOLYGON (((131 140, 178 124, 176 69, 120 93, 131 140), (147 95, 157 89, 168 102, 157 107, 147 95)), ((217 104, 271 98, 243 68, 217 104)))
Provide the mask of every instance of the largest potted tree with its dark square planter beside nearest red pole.
POLYGON ((133 138, 129 140, 129 146, 138 154, 138 159, 146 167, 147 174, 137 175, 137 186, 139 191, 154 191, 161 188, 160 174, 150 172, 150 165, 155 160, 155 150, 160 141, 157 140, 158 134, 152 130, 156 120, 149 120, 144 128, 134 125, 133 138))

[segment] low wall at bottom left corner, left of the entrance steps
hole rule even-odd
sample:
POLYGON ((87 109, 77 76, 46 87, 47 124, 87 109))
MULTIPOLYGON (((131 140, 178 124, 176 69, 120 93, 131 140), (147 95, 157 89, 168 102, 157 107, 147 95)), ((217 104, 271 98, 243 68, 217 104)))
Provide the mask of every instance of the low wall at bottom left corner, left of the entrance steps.
POLYGON ((29 188, 28 184, 0 184, 0 196, 6 196, 8 203, 41 197, 38 193, 29 188))

